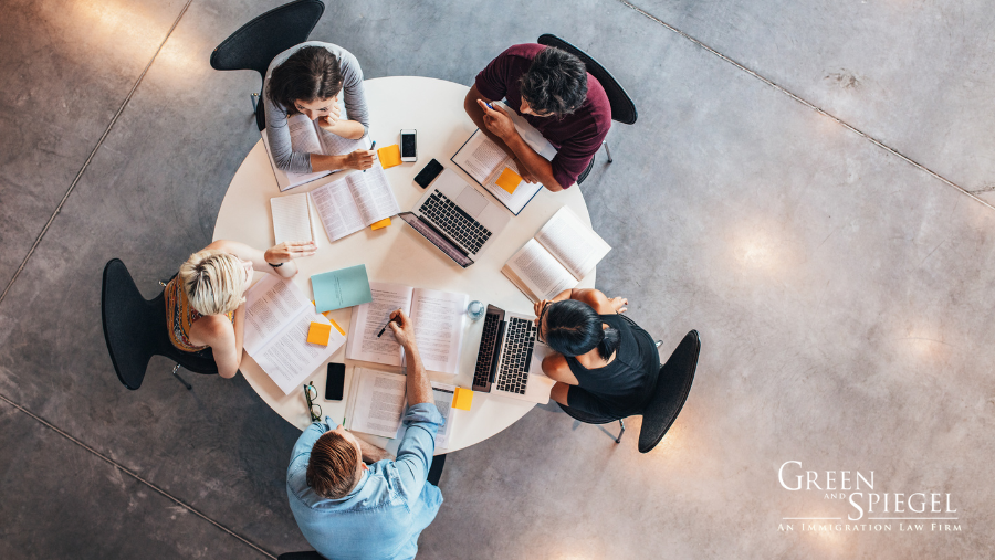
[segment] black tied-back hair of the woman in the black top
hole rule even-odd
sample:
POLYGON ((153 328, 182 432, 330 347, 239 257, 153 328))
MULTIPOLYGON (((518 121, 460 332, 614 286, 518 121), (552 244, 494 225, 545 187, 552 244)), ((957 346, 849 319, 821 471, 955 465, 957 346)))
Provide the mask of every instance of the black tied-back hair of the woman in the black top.
POLYGON ((564 356, 580 356, 597 347, 598 355, 607 360, 621 344, 618 329, 603 328, 605 323, 584 302, 564 299, 546 306, 540 327, 549 348, 564 356))

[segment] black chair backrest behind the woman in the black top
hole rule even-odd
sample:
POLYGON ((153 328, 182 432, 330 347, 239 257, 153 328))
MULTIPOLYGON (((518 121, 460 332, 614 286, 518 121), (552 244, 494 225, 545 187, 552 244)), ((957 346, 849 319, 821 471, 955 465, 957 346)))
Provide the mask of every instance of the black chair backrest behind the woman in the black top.
POLYGON ((642 427, 639 430, 640 453, 649 453, 656 447, 681 413, 688 393, 691 392, 700 352, 701 338, 696 330, 692 330, 684 336, 667 363, 660 367, 653 395, 642 412, 642 427))

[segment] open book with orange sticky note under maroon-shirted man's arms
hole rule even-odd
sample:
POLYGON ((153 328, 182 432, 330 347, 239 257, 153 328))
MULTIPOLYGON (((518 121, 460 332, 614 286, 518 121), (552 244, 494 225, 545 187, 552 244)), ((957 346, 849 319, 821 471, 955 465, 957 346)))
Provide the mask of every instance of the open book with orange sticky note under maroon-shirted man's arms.
MULTIPOLYGON (((520 117, 515 112, 507 109, 507 114, 512 117, 515 128, 532 149, 540 156, 553 160, 556 156, 556 148, 543 138, 538 130, 532 127, 524 118, 520 117)), ((535 193, 543 188, 541 183, 527 183, 520 181, 517 187, 509 190, 498 186, 498 180, 504 169, 511 169, 521 176, 519 167, 514 159, 504 152, 496 144, 486 137, 480 129, 473 131, 470 139, 455 152, 452 162, 467 172, 474 181, 488 190, 495 199, 500 200, 513 214, 519 215, 525 204, 535 197, 535 193)))

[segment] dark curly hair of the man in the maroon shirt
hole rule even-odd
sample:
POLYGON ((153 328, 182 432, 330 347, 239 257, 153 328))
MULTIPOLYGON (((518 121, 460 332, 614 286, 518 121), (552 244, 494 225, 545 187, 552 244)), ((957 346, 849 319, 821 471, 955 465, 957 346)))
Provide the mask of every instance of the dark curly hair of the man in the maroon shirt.
POLYGON ((569 115, 587 99, 587 67, 573 54, 547 46, 522 74, 521 92, 536 113, 569 115))

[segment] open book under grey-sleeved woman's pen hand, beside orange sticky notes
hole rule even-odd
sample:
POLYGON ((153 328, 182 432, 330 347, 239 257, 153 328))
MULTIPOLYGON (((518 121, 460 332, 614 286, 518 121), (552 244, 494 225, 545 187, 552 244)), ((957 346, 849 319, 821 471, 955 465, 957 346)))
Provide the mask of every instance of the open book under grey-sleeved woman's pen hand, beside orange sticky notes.
POLYGON ((349 173, 314 189, 311 201, 332 241, 400 212, 387 173, 377 162, 365 173, 349 173))

